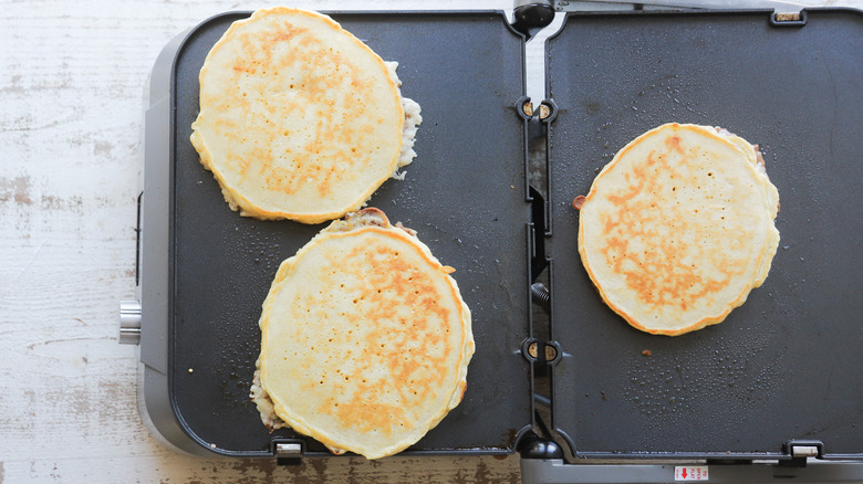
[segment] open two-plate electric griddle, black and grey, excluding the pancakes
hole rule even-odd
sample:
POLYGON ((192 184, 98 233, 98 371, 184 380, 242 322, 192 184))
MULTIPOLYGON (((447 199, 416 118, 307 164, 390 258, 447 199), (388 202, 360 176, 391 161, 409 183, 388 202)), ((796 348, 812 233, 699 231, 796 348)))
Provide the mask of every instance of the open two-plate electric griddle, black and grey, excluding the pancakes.
MULTIPOLYGON (((520 452, 524 482, 863 478, 863 14, 569 12, 534 104, 524 52, 548 23, 542 8, 512 22, 332 13, 399 62, 403 93, 423 108, 407 177, 368 206, 457 269, 474 315, 465 398, 405 452, 520 452), (602 303, 571 207, 616 150, 670 120, 759 143, 781 201, 765 285, 722 324, 675 338, 602 303)), ((325 225, 239 217, 189 143, 204 59, 249 14, 204 21, 154 66, 138 301, 121 305, 121 339, 139 336, 142 415, 167 445, 330 455, 289 429, 270 434, 249 399, 269 284, 325 225)))

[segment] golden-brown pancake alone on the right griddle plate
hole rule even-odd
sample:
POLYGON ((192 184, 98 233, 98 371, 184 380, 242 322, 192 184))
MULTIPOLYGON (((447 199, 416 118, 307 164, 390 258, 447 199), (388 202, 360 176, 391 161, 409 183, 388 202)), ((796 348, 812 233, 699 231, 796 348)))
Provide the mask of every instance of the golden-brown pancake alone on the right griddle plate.
POLYGON ((677 336, 722 322, 760 286, 779 245, 779 193, 757 148, 666 124, 626 145, 581 202, 579 253, 633 327, 677 336))

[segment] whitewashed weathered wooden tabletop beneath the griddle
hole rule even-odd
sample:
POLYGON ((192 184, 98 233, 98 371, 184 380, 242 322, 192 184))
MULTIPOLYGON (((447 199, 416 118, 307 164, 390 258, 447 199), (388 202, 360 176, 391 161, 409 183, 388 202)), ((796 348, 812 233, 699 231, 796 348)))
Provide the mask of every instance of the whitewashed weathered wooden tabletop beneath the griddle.
MULTIPOLYGON (((853 1, 844 3, 863 7, 853 1)), ((116 311, 135 288, 144 84, 180 31, 222 11, 267 4, 0 0, 0 484, 518 482, 518 456, 304 459, 277 466, 174 454, 142 425, 136 349, 117 344, 116 311)), ((292 4, 512 7, 508 0, 292 4)))

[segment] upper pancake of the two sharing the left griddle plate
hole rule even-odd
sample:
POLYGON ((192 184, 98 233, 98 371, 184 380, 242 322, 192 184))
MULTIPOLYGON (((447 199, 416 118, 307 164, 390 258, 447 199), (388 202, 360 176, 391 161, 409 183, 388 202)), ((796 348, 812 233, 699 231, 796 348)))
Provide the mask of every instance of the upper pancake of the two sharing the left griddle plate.
POLYGON ((326 15, 258 10, 207 54, 191 144, 240 214, 340 218, 415 156, 396 66, 326 15))

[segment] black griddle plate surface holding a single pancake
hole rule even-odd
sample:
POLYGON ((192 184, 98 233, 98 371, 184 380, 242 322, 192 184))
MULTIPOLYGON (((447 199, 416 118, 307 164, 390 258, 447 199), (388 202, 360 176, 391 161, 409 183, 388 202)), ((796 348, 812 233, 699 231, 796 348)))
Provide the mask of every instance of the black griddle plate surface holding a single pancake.
POLYGON ((553 425, 580 456, 863 455, 863 15, 572 14, 547 51, 553 425), (597 170, 663 123, 758 143, 779 189, 779 251, 721 324, 669 338, 601 301, 576 252, 597 170), (651 350, 644 356, 643 350, 651 350))

